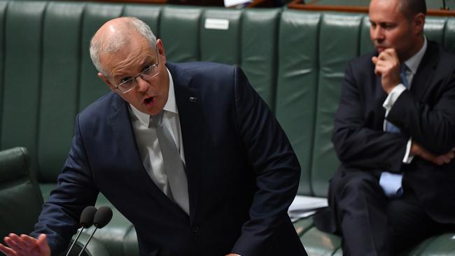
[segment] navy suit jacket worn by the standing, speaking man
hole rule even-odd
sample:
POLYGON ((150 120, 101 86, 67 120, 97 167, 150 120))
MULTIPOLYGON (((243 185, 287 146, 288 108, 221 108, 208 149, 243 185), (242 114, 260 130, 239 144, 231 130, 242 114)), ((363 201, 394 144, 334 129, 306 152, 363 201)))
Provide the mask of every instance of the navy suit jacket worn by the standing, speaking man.
POLYGON ((48 234, 53 252, 64 250, 81 211, 102 192, 134 224, 141 255, 303 255, 286 213, 300 166, 244 73, 211 63, 167 67, 179 109, 190 216, 146 173, 127 103, 111 93, 76 118, 69 157, 34 234, 48 234))

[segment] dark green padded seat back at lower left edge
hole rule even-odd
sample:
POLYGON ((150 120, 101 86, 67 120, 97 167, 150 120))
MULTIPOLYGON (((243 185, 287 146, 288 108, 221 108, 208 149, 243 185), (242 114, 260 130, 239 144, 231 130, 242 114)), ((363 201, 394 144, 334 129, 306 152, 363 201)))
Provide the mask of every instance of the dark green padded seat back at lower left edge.
POLYGON ((0 151, 0 237, 28 234, 38 220, 43 198, 30 173, 25 148, 0 151))

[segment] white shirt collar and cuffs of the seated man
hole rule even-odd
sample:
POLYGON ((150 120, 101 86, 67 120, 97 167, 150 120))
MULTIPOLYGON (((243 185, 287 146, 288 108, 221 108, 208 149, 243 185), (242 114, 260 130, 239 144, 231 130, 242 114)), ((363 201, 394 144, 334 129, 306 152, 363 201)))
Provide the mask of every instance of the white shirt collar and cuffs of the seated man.
MULTIPOLYGON (((407 71, 406 71, 406 78, 407 78, 407 83, 409 84, 409 89, 411 89, 412 85, 412 78, 414 78, 414 75, 417 71, 417 68, 419 68, 419 64, 423 58, 423 55, 425 54, 426 47, 428 43, 426 42, 426 37, 423 38, 423 45, 422 48, 417 52, 414 56, 410 57, 405 61, 405 64, 407 66, 407 71)), ((393 90, 391 91, 390 94, 388 94, 388 97, 384 101, 384 104, 382 106, 386 109, 386 117, 388 115, 388 112, 391 111, 393 105, 395 104, 395 101, 397 101, 398 97, 404 92, 406 89, 405 85, 400 83, 399 85, 395 86, 393 90)), ((386 120, 384 119, 384 131, 386 130, 386 120)), ((406 164, 409 164, 414 156, 409 156, 409 153, 411 152, 411 144, 412 144, 412 138, 409 138, 407 141, 406 145, 406 152, 405 152, 405 157, 403 158, 403 162, 406 164)))

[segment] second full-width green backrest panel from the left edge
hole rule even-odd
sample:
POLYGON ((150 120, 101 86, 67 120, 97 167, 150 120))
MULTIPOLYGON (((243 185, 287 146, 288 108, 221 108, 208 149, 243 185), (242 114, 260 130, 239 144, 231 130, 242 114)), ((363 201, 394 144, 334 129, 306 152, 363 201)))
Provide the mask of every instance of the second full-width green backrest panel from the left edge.
POLYGON ((55 183, 68 155, 78 112, 80 27, 84 4, 49 2, 43 24, 38 173, 55 183))

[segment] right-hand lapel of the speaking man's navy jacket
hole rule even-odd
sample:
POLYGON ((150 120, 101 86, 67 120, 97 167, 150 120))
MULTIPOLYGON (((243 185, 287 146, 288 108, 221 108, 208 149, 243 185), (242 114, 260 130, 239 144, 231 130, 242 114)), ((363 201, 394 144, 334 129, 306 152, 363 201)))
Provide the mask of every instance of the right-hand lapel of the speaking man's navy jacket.
POLYGON ((175 64, 167 64, 174 80, 176 104, 183 137, 186 160, 190 222, 195 219, 200 194, 202 168, 202 105, 200 91, 190 87, 191 77, 175 64))

